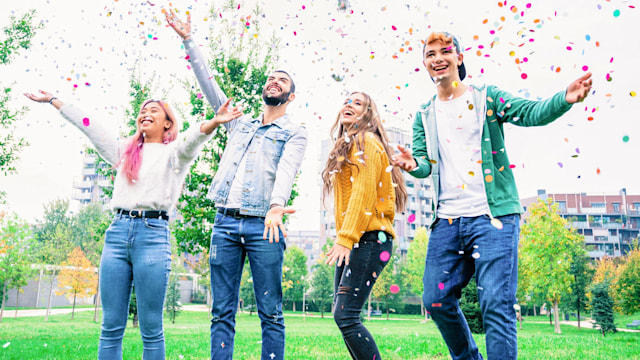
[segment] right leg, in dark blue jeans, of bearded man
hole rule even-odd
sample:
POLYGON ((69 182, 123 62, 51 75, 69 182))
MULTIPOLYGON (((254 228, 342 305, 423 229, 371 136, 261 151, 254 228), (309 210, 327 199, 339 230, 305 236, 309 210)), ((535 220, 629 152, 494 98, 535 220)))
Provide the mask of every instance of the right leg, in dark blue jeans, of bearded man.
POLYGON ((280 242, 264 240, 264 220, 243 219, 242 232, 253 276, 258 316, 262 326, 262 359, 284 359, 285 329, 282 315, 282 262, 286 247, 280 242))

